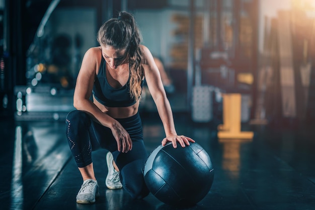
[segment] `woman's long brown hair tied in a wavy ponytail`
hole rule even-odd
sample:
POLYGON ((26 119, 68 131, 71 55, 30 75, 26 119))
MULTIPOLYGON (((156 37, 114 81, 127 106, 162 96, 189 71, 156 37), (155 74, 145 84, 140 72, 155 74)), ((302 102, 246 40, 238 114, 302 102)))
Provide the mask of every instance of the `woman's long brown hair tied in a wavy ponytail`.
POLYGON ((97 33, 97 41, 103 46, 115 49, 127 49, 129 54, 130 97, 137 100, 141 95, 143 78, 143 55, 140 48, 142 37, 133 15, 120 12, 118 18, 106 21, 97 33))

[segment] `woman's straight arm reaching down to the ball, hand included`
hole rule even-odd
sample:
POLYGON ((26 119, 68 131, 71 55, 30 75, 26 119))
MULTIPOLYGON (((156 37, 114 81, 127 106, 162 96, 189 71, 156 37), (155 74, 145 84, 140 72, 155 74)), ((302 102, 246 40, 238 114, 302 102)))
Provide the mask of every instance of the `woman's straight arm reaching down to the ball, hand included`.
POLYGON ((141 47, 145 59, 145 64, 143 64, 145 80, 166 133, 166 138, 163 139, 162 145, 165 146, 167 142, 172 142, 173 147, 176 148, 177 142, 179 142, 182 147, 189 145, 189 142, 195 142, 189 137, 177 134, 171 105, 166 96, 159 69, 154 62, 151 52, 145 46, 142 45, 141 47))

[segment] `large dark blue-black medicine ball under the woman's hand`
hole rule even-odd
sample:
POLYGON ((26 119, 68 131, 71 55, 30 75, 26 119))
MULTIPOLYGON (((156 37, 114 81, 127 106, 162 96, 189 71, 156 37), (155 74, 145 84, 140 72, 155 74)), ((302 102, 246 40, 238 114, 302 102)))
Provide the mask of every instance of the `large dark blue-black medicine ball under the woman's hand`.
POLYGON ((213 167, 209 155, 197 143, 173 148, 159 146, 149 155, 143 170, 150 192, 169 205, 194 205, 209 192, 213 167))

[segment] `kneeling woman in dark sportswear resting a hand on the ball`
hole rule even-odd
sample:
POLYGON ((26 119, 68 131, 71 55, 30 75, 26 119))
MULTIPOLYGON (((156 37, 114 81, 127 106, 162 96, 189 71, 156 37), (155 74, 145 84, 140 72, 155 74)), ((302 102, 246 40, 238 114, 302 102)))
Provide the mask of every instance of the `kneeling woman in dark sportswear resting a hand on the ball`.
POLYGON ((99 148, 109 151, 106 186, 124 187, 140 199, 149 193, 142 175, 148 154, 138 113, 144 79, 164 125, 162 145, 185 147, 194 141, 175 130, 159 69, 148 48, 140 44, 134 17, 120 12, 101 26, 97 40, 100 46, 87 50, 77 76, 76 110, 66 117, 67 140, 83 178, 76 202, 94 203, 99 195, 91 156, 99 148))

